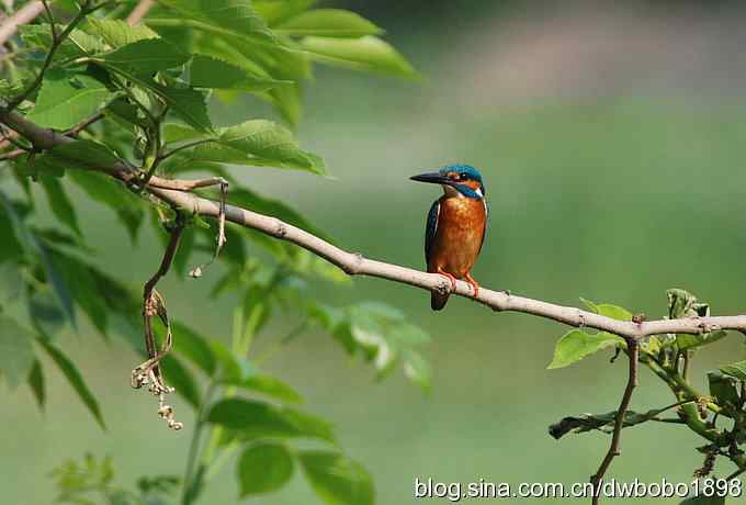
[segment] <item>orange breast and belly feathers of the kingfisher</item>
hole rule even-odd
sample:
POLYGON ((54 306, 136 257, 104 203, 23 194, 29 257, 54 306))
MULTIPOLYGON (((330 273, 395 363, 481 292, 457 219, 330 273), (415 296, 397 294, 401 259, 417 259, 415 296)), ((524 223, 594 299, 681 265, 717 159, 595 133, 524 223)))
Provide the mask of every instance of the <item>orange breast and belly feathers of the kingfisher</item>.
POLYGON ((479 255, 486 222, 484 201, 441 198, 428 271, 437 272, 440 269, 463 279, 479 255))

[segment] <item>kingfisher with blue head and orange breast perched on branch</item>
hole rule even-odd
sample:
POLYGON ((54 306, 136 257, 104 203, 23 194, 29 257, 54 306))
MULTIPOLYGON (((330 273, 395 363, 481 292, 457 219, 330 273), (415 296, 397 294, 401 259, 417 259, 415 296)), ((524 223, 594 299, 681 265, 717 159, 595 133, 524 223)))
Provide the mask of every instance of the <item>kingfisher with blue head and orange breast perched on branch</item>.
MULTIPOLYGON (((409 179, 443 188, 443 195, 432 202, 425 229, 428 272, 448 278, 452 290, 456 288, 456 279, 465 280, 476 298, 479 284, 470 271, 482 251, 489 215, 479 170, 470 165, 447 165, 437 172, 409 179)), ((430 295, 432 310, 443 308, 449 295, 433 291, 430 295)))

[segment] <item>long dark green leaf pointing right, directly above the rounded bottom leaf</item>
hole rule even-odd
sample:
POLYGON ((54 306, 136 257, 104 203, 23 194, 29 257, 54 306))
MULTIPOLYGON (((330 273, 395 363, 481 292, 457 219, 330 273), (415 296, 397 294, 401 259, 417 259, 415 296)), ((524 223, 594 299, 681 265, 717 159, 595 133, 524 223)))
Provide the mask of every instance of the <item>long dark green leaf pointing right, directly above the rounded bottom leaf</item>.
POLYGON ((222 400, 210 409, 207 420, 240 430, 247 439, 315 438, 335 441, 331 425, 326 420, 289 407, 251 400, 222 400))

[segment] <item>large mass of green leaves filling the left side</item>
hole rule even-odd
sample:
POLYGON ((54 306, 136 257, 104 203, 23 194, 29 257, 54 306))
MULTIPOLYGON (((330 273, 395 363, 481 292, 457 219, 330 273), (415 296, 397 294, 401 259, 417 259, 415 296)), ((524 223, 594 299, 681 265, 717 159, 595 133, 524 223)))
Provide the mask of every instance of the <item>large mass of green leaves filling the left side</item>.
MULTIPOLYGON (((77 212, 76 198, 89 198, 114 212, 122 235, 128 235, 132 244, 144 225, 152 226, 166 244, 163 232, 184 222, 172 269, 180 278, 195 258, 212 256, 216 223, 177 215, 158 204, 143 188, 149 175, 181 177, 196 171, 222 177, 229 182, 230 203, 328 239, 290 202, 257 193, 231 172, 249 166, 326 173, 324 160, 302 148, 292 132, 301 120, 301 87, 312 80, 315 63, 404 77, 415 72, 370 21, 343 10, 314 10, 313 4, 163 0, 152 5, 143 23, 131 26, 124 21, 127 7, 68 1, 54 4, 54 35, 44 16, 20 27, 18 43, 30 56, 13 61, 13 75, 0 82, 0 94, 26 120, 58 135, 71 132, 75 138, 2 161, 9 170, 0 172, 5 217, 0 220, 0 308, 8 305, 12 311, 0 313, 0 375, 10 388, 26 383, 43 408, 46 381, 61 375, 103 428, 105 416, 95 388, 56 334, 78 330, 83 315, 105 338, 123 337, 145 356, 140 293, 146 279, 97 267, 106 259, 92 258, 97 231, 77 212), (100 9, 79 11, 93 7, 100 9), (290 128, 260 117, 218 127, 208 105, 225 92, 270 101, 290 128), (138 171, 139 181, 125 184, 112 177, 127 170, 138 171), (13 181, 21 193, 5 188, 13 181), (39 211, 34 197, 39 190, 59 226, 35 224, 39 211), (147 213, 150 220, 145 218, 147 213), (16 322, 25 316, 27 322, 16 322)), ((30 146, 26 139, 19 142, 30 146)), ((207 189, 204 194, 212 195, 207 189)), ((261 364, 302 335, 325 333, 372 363, 377 378, 400 364, 412 382, 428 389, 430 369, 419 354, 428 336, 385 304, 342 308, 323 304, 309 290, 312 283, 349 281, 296 246, 234 225, 228 225, 226 236, 218 258, 223 270, 214 269, 222 277, 213 295, 236 295, 231 327, 210 328, 202 335, 179 322, 180 314, 169 314, 177 319, 171 325, 173 351, 160 362, 166 382, 196 413, 184 479, 143 478, 137 491, 129 492, 114 485, 110 459, 87 456, 83 463, 67 461, 53 472, 58 502, 89 504, 100 496, 120 505, 165 505, 174 503, 178 494, 180 503, 194 503, 208 492, 206 475, 218 464, 217 457, 240 450, 236 464, 240 496, 276 491, 302 468, 323 502, 372 503, 371 478, 338 447, 332 424, 298 409, 301 392, 262 371, 261 364), (274 317, 293 324, 269 340, 264 333, 274 317), (230 346, 221 339, 226 333, 233 335, 230 346), (269 341, 257 352, 253 343, 260 336, 269 341), (211 437, 200 445, 203 430, 211 437), (326 449, 301 450, 296 444, 305 447, 303 439, 326 449)), ((136 256, 137 249, 132 254, 136 256)), ((151 270, 156 267, 154 262, 151 270)), ((155 333, 162 339, 166 327, 157 324, 155 333)), ((123 391, 128 388, 123 381, 123 391)))

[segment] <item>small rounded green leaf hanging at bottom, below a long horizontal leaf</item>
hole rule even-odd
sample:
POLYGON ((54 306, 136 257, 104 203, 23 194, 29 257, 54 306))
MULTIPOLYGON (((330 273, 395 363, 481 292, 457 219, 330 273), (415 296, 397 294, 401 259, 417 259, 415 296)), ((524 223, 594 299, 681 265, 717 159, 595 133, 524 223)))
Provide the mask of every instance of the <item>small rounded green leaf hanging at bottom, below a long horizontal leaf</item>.
POLYGON ((271 493, 293 476, 293 456, 281 444, 257 444, 247 447, 238 459, 240 497, 271 493))

